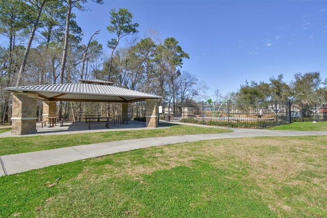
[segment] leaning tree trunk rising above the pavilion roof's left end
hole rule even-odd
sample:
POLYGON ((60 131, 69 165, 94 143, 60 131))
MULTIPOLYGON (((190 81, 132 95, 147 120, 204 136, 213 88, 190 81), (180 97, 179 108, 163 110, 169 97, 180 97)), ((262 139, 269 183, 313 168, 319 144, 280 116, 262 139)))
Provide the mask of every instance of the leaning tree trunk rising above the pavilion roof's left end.
POLYGON ((31 32, 29 41, 27 42, 25 53, 24 53, 24 57, 22 58, 22 63, 20 65, 20 69, 19 69, 19 72, 18 72, 16 86, 19 86, 19 83, 20 83, 20 80, 21 80, 21 75, 24 72, 24 69, 25 69, 25 66, 26 66, 26 62, 27 62, 27 57, 29 56, 31 44, 32 44, 32 41, 33 41, 33 38, 34 38, 34 35, 35 35, 35 31, 37 29, 37 25, 38 25, 39 20, 40 20, 40 16, 41 16, 41 13, 42 13, 42 9, 43 9, 44 4, 45 4, 45 0, 43 0, 41 6, 38 8, 37 17, 36 17, 36 19, 34 21, 32 32, 31 32))

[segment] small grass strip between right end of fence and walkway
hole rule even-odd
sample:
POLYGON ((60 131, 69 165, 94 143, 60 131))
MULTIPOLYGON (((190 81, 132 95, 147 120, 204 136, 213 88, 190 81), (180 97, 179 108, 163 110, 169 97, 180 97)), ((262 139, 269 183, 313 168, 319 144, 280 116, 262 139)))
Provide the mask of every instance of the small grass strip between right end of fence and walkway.
POLYGON ((294 122, 270 128, 272 130, 327 131, 327 122, 294 122))

